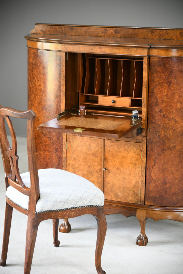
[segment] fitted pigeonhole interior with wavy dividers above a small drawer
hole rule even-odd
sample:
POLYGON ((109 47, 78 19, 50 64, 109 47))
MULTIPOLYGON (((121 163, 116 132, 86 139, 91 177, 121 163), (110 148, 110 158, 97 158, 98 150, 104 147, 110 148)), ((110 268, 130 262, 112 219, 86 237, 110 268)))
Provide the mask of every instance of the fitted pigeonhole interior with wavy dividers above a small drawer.
POLYGON ((142 107, 143 59, 86 56, 80 104, 142 107))

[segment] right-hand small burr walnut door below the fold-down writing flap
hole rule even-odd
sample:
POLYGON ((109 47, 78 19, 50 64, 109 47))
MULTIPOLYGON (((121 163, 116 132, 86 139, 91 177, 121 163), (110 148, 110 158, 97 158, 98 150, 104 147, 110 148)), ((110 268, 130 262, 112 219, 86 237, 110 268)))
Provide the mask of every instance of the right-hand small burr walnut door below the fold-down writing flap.
POLYGON ((140 204, 142 143, 105 140, 105 199, 140 204))

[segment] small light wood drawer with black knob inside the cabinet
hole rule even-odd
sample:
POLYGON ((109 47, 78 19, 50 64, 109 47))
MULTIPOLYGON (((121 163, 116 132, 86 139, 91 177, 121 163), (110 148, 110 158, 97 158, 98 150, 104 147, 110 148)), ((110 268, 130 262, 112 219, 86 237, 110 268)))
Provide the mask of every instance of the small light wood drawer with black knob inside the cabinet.
POLYGON ((118 107, 130 107, 130 98, 99 96, 98 104, 99 105, 118 106, 118 107))

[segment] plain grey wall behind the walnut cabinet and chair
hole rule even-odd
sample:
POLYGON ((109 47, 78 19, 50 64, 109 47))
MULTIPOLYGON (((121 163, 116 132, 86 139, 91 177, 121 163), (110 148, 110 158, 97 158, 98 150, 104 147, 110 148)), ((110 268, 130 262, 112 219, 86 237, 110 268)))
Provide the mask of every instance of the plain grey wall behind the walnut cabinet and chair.
MULTIPOLYGON (((27 110, 27 47, 35 23, 183 28, 183 0, 6 0, 0 5, 0 104, 27 110)), ((24 136, 17 123, 19 136, 24 136)))

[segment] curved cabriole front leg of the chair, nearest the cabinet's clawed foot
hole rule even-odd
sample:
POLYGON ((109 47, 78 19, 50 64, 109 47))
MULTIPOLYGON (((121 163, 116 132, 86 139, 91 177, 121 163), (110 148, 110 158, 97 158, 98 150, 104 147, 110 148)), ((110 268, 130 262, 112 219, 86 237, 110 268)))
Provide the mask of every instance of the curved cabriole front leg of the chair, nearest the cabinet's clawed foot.
POLYGON ((95 216, 97 220, 97 242, 95 250, 95 267, 98 274, 105 274, 105 271, 101 267, 102 249, 104 246, 105 234, 107 230, 107 222, 104 215, 104 209, 98 208, 98 215, 95 216))

